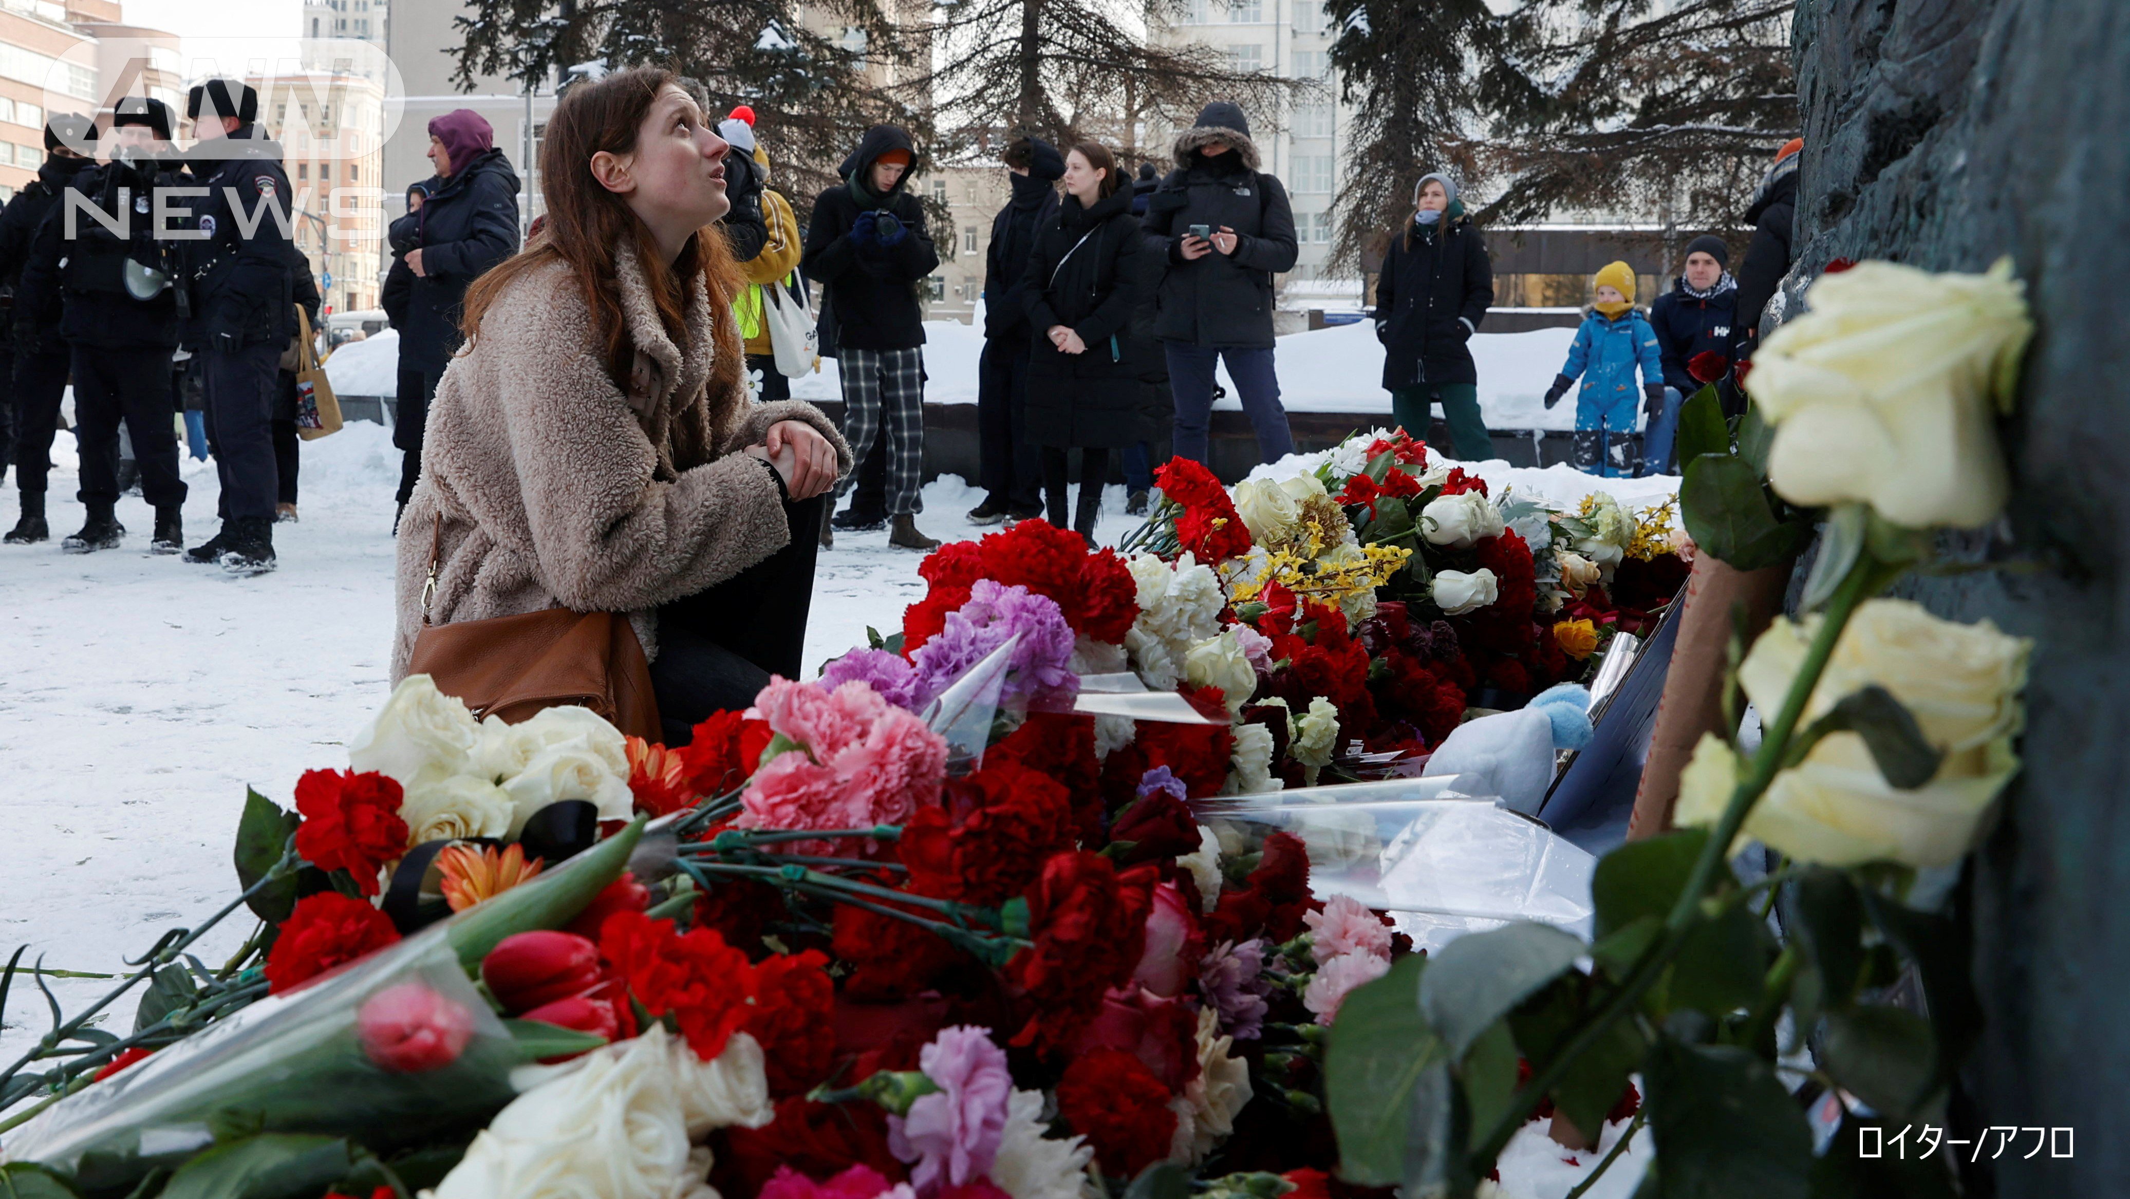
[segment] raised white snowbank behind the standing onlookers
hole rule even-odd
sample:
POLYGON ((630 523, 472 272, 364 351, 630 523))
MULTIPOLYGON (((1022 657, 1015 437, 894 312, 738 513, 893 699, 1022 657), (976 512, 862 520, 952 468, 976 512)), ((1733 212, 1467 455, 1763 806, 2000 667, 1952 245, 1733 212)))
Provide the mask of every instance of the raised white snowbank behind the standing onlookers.
MULTIPOLYGON (((1482 332, 1472 339, 1472 360, 1478 366, 1478 403, 1487 428, 1574 428, 1576 405, 1563 403, 1546 411, 1544 394, 1568 360, 1572 328, 1534 332, 1482 332)), ((976 364, 984 351, 984 332, 961 322, 924 322, 924 400, 935 405, 976 403, 976 364)), ((1391 413, 1391 394, 1382 390, 1382 347, 1367 322, 1293 332, 1278 341, 1280 403, 1297 413, 1391 413)), ((379 332, 368 341, 351 341, 332 351, 326 373, 332 390, 343 396, 390 396, 398 388, 398 334, 379 332)), ((1242 411, 1235 381, 1220 368, 1227 398, 1216 409, 1242 411)), ((818 375, 792 381, 801 400, 841 400, 835 360, 824 360, 818 375)))

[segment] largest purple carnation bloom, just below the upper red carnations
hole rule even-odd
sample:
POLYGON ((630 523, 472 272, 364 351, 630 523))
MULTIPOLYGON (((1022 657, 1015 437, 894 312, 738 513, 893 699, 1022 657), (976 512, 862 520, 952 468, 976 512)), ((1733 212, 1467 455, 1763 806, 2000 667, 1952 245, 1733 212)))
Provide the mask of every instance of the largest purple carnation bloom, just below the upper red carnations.
POLYGON ((1035 699, 1069 703, 1080 694, 1080 675, 1069 667, 1074 635, 1059 603, 1029 588, 978 579, 969 603, 950 611, 946 628, 916 654, 920 703, 931 703, 1016 633, 1020 645, 999 694, 1001 707, 1029 707, 1035 699))

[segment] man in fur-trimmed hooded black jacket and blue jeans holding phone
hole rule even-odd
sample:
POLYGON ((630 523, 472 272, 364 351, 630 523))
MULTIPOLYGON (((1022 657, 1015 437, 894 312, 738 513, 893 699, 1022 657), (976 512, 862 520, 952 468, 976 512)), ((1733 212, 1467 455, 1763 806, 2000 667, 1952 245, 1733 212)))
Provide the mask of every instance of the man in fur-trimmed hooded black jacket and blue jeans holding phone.
POLYGON ((1295 213, 1280 181, 1257 170, 1250 121, 1227 100, 1176 134, 1174 155, 1146 204, 1146 247, 1167 262, 1154 336, 1176 394, 1176 456, 1206 462, 1225 360, 1257 454, 1274 462, 1295 449, 1272 360, 1272 277, 1295 266, 1295 213))

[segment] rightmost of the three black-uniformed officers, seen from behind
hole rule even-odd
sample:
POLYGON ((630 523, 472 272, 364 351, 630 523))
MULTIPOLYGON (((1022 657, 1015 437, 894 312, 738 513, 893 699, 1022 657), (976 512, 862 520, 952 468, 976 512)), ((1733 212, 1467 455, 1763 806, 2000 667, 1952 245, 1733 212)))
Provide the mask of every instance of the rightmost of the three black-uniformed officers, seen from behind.
POLYGON ((192 175, 207 196, 192 209, 200 236, 185 243, 192 315, 183 345, 200 358, 222 475, 222 532, 187 549, 185 560, 260 575, 275 566, 273 400, 281 349, 296 330, 292 196, 281 145, 253 124, 258 92, 209 79, 187 96, 185 115, 198 138, 192 175))

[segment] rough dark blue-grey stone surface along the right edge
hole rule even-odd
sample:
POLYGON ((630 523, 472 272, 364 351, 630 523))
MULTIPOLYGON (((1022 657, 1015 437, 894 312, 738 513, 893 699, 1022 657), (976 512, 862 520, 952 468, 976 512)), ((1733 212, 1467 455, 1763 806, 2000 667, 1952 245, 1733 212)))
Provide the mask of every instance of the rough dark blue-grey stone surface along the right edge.
POLYGON ((2130 1186, 2130 2, 1800 0, 1796 285, 1832 258, 1981 270, 2038 319, 2004 426, 2009 522, 1968 549, 2028 573, 1913 594, 2034 637, 2026 773, 1972 871, 1989 1029, 1979 1124, 2075 1127, 2004 1197, 2130 1186))

